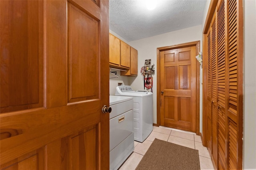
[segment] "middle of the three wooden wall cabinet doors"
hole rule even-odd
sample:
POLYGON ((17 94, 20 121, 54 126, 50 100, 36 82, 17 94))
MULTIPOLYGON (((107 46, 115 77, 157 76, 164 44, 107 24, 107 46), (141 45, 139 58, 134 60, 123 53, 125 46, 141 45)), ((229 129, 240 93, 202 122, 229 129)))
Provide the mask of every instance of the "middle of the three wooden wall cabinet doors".
POLYGON ((130 45, 121 41, 121 63, 123 67, 130 68, 130 45))

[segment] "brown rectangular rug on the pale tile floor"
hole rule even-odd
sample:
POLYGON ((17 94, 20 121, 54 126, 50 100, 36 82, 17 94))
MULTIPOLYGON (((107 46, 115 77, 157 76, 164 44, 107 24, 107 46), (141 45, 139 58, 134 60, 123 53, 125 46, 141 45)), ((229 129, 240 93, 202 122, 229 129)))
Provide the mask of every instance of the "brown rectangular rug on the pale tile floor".
POLYGON ((200 170, 198 150, 155 138, 136 170, 200 170))

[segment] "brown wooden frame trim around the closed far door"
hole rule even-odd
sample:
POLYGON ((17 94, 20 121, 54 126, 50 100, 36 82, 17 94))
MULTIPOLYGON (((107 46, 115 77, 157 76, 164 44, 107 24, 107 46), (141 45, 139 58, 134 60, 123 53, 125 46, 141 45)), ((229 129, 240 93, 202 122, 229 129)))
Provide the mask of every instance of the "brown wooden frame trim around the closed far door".
MULTIPOLYGON (((183 47, 191 47, 196 46, 196 55, 199 55, 200 52, 200 41, 188 42, 188 43, 181 43, 178 45, 171 45, 165 47, 158 47, 157 50, 157 63, 156 63, 156 71, 157 71, 157 82, 156 82, 156 126, 160 126, 160 52, 166 51, 170 49, 177 49, 183 47)), ((196 62, 196 134, 200 135, 200 64, 196 62)))

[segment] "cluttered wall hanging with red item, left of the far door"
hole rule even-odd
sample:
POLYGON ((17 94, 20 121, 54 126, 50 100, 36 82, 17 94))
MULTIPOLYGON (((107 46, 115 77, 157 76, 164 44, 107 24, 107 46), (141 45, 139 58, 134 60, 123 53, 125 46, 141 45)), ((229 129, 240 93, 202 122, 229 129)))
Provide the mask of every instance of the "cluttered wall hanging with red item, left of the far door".
POLYGON ((154 64, 151 65, 151 59, 146 59, 144 66, 141 67, 141 69, 140 69, 140 73, 143 76, 144 89, 146 89, 147 91, 151 91, 151 92, 153 92, 153 90, 152 90, 152 86, 153 86, 152 74, 155 73, 154 66, 155 66, 154 64))

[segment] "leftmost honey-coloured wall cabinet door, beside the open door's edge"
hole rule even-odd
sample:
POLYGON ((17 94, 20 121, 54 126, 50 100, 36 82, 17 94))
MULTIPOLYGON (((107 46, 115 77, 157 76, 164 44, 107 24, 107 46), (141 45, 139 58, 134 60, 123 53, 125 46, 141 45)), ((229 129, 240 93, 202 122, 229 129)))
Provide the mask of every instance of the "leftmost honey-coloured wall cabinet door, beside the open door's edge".
POLYGON ((120 65, 120 40, 109 34, 109 62, 120 65))

